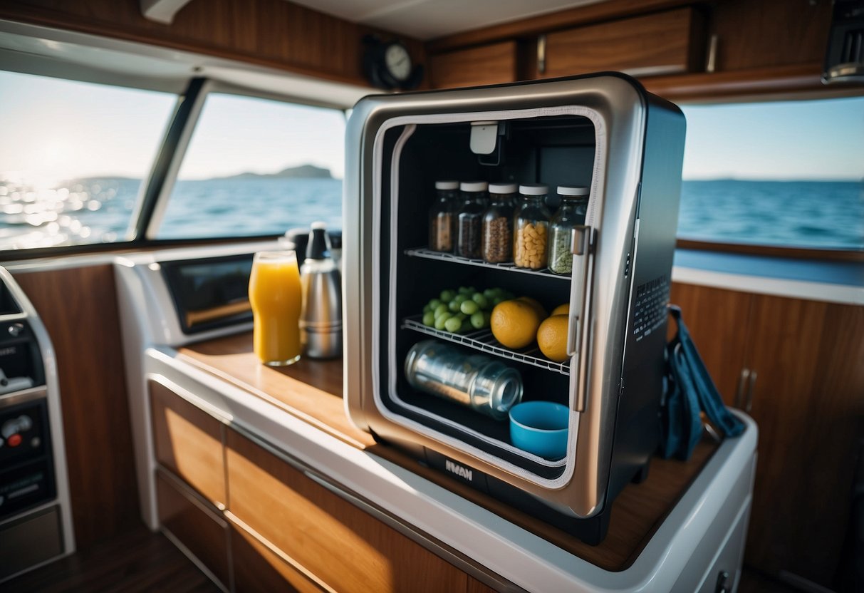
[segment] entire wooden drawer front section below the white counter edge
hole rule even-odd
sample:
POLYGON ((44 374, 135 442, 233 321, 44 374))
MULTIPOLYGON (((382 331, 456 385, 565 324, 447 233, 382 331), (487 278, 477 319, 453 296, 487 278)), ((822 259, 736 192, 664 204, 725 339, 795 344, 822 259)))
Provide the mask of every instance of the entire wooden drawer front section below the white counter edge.
POLYGON ((226 590, 486 590, 168 387, 149 390, 160 524, 226 590))

